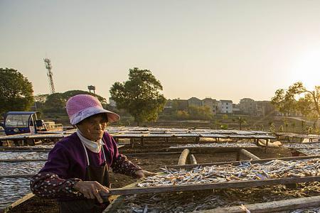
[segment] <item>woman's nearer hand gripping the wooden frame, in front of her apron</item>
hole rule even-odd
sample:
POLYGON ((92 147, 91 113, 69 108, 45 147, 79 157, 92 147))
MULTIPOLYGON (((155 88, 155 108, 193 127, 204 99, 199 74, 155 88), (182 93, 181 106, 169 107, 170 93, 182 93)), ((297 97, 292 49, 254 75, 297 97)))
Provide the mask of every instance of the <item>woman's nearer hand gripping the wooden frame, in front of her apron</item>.
POLYGON ((85 195, 87 199, 97 199, 100 203, 103 202, 100 192, 109 193, 109 189, 97 181, 80 181, 75 184, 74 188, 85 195))

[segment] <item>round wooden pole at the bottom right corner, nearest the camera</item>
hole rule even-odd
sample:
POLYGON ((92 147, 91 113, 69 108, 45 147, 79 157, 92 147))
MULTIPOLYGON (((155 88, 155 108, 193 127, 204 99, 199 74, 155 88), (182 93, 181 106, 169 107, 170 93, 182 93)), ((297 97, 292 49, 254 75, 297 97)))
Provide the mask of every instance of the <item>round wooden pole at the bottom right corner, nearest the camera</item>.
MULTIPOLYGON (((262 202, 256 204, 246 204, 245 207, 251 213, 282 212, 286 210, 304 209, 309 207, 320 207, 320 196, 302 197, 289 200, 278 200, 272 202, 262 202)), ((243 213, 241 206, 221 207, 197 211, 198 213, 243 213)))

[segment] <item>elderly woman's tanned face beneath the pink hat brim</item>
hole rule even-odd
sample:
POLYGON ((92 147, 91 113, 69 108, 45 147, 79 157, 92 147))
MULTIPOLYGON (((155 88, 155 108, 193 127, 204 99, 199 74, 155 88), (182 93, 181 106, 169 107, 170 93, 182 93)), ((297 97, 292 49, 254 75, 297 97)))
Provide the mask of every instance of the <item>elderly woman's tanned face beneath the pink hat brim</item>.
POLYGON ((82 136, 91 140, 100 140, 105 132, 107 126, 106 114, 96 114, 77 124, 78 129, 81 131, 82 136))

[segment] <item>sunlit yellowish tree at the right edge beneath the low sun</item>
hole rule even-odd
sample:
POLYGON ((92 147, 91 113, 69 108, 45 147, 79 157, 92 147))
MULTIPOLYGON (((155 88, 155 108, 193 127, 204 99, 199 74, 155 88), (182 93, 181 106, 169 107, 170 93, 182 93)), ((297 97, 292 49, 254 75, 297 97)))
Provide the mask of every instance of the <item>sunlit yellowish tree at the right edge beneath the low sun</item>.
POLYGON ((277 89, 271 100, 284 114, 300 111, 304 116, 320 117, 320 86, 308 90, 302 82, 292 84, 287 90, 277 89))

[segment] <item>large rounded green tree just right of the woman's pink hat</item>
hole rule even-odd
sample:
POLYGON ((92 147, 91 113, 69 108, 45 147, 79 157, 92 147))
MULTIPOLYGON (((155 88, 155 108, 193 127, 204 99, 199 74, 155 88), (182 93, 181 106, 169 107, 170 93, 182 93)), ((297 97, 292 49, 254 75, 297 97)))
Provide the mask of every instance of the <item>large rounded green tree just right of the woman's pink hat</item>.
POLYGON ((160 94, 162 85, 150 70, 129 70, 129 80, 115 82, 110 88, 111 98, 117 108, 126 109, 137 125, 144 121, 156 121, 164 109, 166 99, 160 94))

